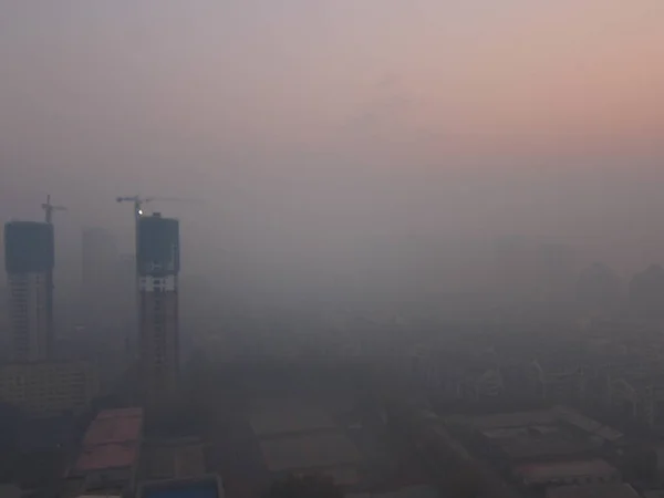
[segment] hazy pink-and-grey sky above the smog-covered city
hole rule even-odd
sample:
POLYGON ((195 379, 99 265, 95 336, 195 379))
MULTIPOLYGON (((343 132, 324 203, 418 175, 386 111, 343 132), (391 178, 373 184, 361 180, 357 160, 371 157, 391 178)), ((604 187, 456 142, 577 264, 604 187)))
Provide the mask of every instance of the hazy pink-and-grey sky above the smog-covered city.
POLYGON ((526 232, 652 259, 663 25, 662 0, 0 0, 0 209, 50 191, 74 234, 177 195, 207 201, 159 206, 197 249, 526 232))

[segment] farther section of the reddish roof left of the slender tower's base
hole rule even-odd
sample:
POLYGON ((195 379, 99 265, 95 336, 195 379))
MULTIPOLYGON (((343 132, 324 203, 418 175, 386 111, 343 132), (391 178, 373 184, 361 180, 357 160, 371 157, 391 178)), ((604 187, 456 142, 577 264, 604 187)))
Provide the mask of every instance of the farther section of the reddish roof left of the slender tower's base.
POLYGON ((122 408, 101 412, 87 427, 83 446, 136 442, 143 429, 143 409, 122 408))

